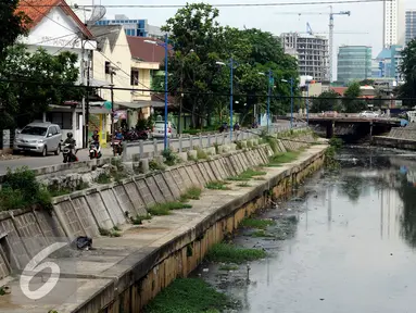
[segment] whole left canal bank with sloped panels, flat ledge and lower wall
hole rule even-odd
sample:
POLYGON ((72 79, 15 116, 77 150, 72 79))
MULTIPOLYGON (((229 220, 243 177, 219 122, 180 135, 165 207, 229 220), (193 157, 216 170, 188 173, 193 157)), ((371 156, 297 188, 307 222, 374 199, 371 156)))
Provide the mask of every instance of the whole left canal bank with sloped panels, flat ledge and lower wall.
MULTIPOLYGON (((298 140, 300 142, 279 141, 278 149, 294 150, 306 146, 302 141, 314 141, 311 135, 298 140)), ((292 163, 264 167, 262 171, 267 173, 264 180, 253 179, 250 187, 230 184, 230 190, 204 189, 200 200, 190 201, 192 209, 154 216, 139 226, 128 224, 127 216, 144 215, 147 208, 178 199, 192 186, 203 188, 210 181, 224 180, 255 165, 267 164, 273 154, 270 147, 263 145, 239 150, 209 161, 187 163, 169 171, 55 198, 51 212, 36 209, 2 212, 0 243, 9 253, 0 253, 0 276, 5 277, 0 280, 0 286, 11 286, 12 292, 0 297, 0 312, 46 313, 53 306, 59 313, 140 312, 175 278, 193 271, 210 247, 232 233, 242 218, 266 205, 270 199, 289 192, 294 184, 319 168, 325 149, 325 145, 311 146, 292 163), (122 229, 122 237, 99 236, 100 229, 114 226, 122 229), (54 296, 52 291, 56 305, 37 302, 26 305, 18 299, 16 301, 14 290, 18 286, 9 276, 8 263, 26 264, 41 247, 51 243, 50 238, 75 239, 85 235, 94 238, 94 250, 75 250, 71 256, 49 260, 60 264, 64 277, 60 284, 67 286, 63 288, 71 292, 67 297, 60 299, 63 291, 54 296), (39 240, 31 243, 27 238, 39 240), (76 271, 70 271, 71 266, 66 265, 74 259, 76 271), (74 284, 76 290, 71 289, 74 284)), ((47 278, 40 277, 39 285, 47 278)))

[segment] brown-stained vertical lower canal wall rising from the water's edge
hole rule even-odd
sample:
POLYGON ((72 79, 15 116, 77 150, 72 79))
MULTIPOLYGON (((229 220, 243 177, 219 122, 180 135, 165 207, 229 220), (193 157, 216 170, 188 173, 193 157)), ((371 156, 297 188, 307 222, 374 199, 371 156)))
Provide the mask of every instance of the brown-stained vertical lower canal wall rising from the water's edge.
MULTIPOLYGON (((225 204, 206 208, 209 213, 204 214, 205 217, 199 215, 197 222, 182 225, 168 238, 153 242, 149 250, 146 250, 146 256, 136 254, 126 258, 119 266, 129 268, 124 270, 116 281, 103 286, 102 290, 96 292, 84 305, 67 312, 141 312, 141 309, 174 279, 187 277, 196 270, 210 248, 234 233, 244 217, 267 205, 270 199, 287 195, 293 185, 302 183, 307 175, 322 167, 325 149, 319 147, 315 148, 315 151, 303 162, 286 170, 270 167, 268 172, 278 174, 267 176, 266 180, 242 195, 236 197, 229 193, 225 204)), ((212 198, 205 201, 209 199, 212 198)), ((201 201, 203 200, 202 198, 201 201)), ((112 268, 110 273, 114 273, 112 268)))

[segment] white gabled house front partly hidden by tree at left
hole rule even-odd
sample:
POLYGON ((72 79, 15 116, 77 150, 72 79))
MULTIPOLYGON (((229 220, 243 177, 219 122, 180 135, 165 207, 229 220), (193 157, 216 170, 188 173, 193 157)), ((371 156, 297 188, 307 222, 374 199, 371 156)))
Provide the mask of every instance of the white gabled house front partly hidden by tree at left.
MULTIPOLYGON (((38 1, 36 4, 41 5, 42 2, 38 1)), ((22 7, 22 11, 25 12, 26 8, 28 7, 22 7)), ((91 33, 67 3, 63 0, 56 0, 53 5, 39 7, 36 11, 25 13, 33 23, 28 36, 20 38, 20 42, 27 45, 29 52, 42 48, 50 54, 59 54, 63 51, 75 53, 78 55, 76 65, 81 73, 81 68, 85 68, 85 64, 89 61, 89 55, 92 54, 90 52, 96 50, 97 42, 91 40, 91 33)), ((83 83, 85 83, 85 77, 79 75, 76 85, 83 83)), ((61 104, 52 104, 50 111, 45 114, 43 121, 60 125, 65 137, 68 132, 73 133, 79 147, 84 139, 85 114, 83 114, 83 105, 80 103, 61 104)))

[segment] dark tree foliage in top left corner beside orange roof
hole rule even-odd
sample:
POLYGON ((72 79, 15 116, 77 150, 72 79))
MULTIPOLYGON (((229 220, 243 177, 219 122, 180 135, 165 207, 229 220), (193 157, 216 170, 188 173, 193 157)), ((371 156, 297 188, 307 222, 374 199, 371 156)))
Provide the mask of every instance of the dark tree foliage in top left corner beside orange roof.
POLYGON ((20 0, 8 0, 0 3, 0 59, 4 58, 7 48, 13 45, 18 36, 28 32, 30 20, 18 11, 18 2, 20 0))

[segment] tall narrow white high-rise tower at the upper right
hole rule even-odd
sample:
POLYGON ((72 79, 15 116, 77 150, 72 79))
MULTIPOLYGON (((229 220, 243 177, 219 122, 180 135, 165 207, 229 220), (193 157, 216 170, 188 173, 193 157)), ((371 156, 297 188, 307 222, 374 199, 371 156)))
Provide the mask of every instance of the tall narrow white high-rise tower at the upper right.
POLYGON ((403 0, 383 2, 383 48, 393 45, 404 45, 405 20, 403 0))

